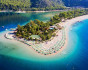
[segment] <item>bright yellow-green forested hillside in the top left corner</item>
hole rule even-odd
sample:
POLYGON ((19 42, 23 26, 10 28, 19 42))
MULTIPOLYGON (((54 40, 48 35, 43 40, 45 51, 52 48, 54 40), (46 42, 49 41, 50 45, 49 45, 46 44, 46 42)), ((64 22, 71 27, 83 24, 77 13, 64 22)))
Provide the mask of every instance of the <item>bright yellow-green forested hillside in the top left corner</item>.
POLYGON ((30 0, 0 0, 1 10, 24 10, 24 8, 29 8, 30 5, 30 0))

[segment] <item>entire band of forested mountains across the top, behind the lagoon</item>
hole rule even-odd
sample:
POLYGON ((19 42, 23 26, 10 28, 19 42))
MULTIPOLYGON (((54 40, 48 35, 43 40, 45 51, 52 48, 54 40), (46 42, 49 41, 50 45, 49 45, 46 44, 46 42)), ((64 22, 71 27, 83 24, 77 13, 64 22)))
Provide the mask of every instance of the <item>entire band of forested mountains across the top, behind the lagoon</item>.
POLYGON ((40 10, 40 8, 44 8, 46 10, 49 9, 53 10, 53 9, 63 9, 64 6, 88 7, 88 0, 0 0, 1 10, 3 9, 24 10, 25 8, 26 10, 31 10, 31 8, 38 8, 33 10, 40 10))

